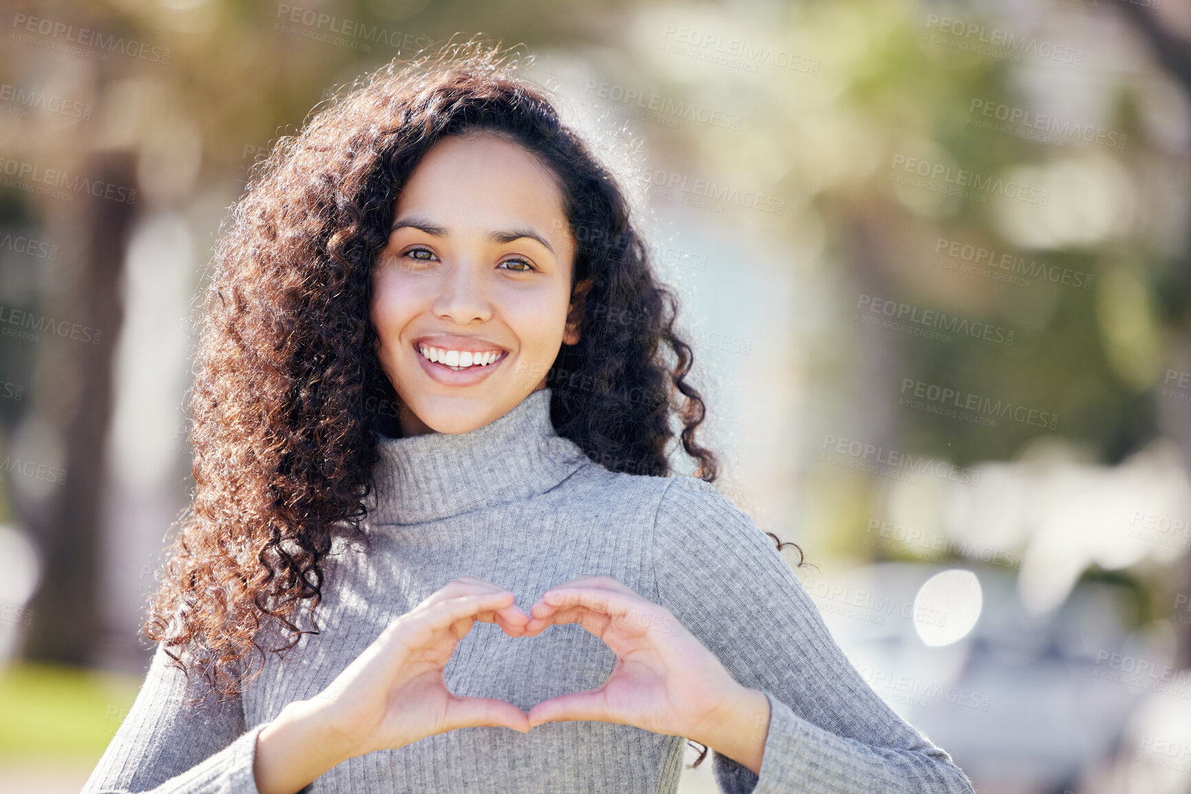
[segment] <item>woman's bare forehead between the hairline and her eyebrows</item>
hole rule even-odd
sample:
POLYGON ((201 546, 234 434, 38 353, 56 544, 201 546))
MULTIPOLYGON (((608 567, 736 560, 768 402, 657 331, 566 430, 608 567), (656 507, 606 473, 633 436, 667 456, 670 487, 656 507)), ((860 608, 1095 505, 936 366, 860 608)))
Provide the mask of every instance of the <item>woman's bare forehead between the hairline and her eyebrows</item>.
POLYGON ((569 237, 550 170, 518 144, 487 133, 431 146, 397 200, 395 218, 413 212, 450 229, 532 224, 551 239, 569 237))

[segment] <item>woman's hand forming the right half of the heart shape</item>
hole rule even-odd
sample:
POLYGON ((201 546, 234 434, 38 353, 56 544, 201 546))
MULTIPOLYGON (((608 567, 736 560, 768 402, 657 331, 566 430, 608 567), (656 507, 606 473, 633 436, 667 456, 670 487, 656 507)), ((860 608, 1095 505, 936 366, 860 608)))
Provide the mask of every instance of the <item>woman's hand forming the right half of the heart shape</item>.
POLYGON ((741 709, 755 707, 756 695, 763 698, 737 683, 666 607, 611 576, 580 576, 551 587, 530 607, 530 617, 526 637, 551 624, 578 623, 617 656, 603 686, 534 706, 531 727, 598 720, 709 744, 704 738, 716 736, 717 726, 738 723, 741 709))

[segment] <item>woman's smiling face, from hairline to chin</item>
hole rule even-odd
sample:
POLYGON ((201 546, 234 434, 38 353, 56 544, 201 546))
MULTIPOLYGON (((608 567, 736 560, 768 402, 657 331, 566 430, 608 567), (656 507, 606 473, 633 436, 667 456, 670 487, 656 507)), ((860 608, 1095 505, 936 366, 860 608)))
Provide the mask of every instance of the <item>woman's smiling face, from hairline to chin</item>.
POLYGON ((545 386, 562 343, 579 340, 573 260, 562 195, 528 151, 468 135, 426 152, 373 274, 403 434, 475 430, 545 386))

